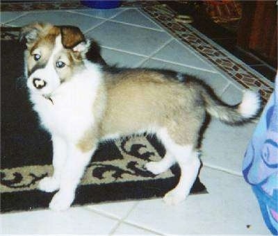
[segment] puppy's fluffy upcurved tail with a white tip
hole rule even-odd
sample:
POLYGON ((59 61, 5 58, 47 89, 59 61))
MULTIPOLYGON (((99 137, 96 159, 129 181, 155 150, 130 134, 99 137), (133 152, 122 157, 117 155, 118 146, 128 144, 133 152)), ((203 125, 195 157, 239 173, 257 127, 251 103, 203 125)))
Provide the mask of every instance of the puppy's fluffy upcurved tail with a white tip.
POLYGON ((206 103, 206 111, 231 125, 243 124, 245 121, 256 117, 261 108, 261 99, 259 94, 246 90, 243 93, 243 100, 236 106, 229 106, 208 90, 202 90, 202 96, 206 103))

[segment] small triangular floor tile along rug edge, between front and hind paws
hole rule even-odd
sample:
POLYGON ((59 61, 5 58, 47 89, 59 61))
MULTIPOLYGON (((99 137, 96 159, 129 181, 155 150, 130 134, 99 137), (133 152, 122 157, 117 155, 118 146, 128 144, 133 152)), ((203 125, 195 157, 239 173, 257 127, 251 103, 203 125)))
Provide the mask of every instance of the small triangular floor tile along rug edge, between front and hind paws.
POLYGON ((115 217, 117 219, 122 219, 126 216, 126 214, 128 214, 135 204, 135 201, 124 201, 117 203, 88 205, 86 208, 96 212, 101 212, 102 214, 108 214, 111 217, 115 217))

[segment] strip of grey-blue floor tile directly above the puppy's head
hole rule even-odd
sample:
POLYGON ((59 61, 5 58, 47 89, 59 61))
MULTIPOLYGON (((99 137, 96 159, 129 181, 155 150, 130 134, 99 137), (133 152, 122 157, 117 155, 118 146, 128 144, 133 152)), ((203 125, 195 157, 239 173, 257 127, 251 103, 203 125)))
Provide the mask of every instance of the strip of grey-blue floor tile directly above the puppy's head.
POLYGON ((103 19, 88 17, 85 15, 73 14, 70 12, 31 12, 24 17, 20 17, 10 24, 15 26, 24 26, 32 22, 49 22, 55 25, 72 25, 81 28, 81 31, 87 31, 93 26, 97 26, 103 19))

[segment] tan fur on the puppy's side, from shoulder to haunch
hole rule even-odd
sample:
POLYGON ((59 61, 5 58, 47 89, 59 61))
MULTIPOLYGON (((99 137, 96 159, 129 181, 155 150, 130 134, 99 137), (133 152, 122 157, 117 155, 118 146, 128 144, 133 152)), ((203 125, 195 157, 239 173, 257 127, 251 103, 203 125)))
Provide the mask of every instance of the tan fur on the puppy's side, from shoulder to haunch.
POLYGON ((108 96, 101 136, 161 127, 167 128, 177 144, 195 142, 204 108, 195 106, 193 90, 163 74, 144 70, 106 75, 105 81, 108 96))

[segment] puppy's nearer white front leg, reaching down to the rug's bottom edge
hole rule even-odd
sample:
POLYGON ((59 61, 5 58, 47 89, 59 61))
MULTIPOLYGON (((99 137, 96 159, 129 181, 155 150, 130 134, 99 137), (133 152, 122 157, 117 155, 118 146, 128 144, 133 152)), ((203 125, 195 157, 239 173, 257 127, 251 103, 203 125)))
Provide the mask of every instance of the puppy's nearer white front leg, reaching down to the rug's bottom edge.
POLYGON ((76 187, 94 152, 95 145, 89 151, 79 149, 76 144, 68 145, 68 156, 60 179, 60 190, 49 204, 51 210, 61 211, 70 208, 74 201, 76 187))

